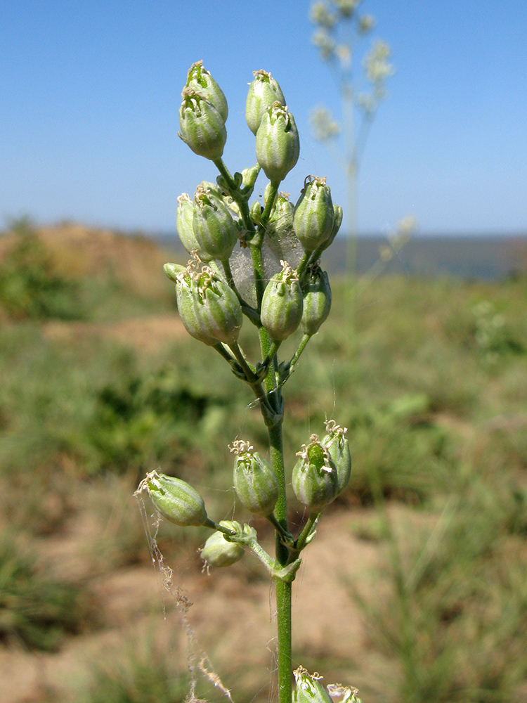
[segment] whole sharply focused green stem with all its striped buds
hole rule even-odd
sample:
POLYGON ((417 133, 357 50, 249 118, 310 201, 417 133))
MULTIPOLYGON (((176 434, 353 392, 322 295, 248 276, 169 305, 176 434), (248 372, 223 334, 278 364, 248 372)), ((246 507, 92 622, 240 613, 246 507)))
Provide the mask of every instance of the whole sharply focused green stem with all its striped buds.
MULTIPOLYGON (((326 423, 322 439, 313 434, 301 447, 291 481, 308 519, 294 536, 287 520, 282 387, 330 313, 330 283, 320 268, 320 256, 339 230, 342 209, 333 205, 325 178, 307 176, 296 205, 287 194, 279 193, 280 182, 297 163, 300 143, 294 117, 271 74, 256 71, 249 85, 246 117, 256 137, 257 162, 242 172, 230 174, 223 162, 227 101, 201 61, 190 67, 182 98, 179 136, 196 154, 212 160, 219 176, 216 183, 200 183, 193 199, 186 193, 178 198, 178 234, 191 259, 188 266, 166 264, 164 270, 176 284, 178 311, 188 333, 221 354, 256 396, 268 431, 271 461, 248 441, 233 441, 233 479, 245 508, 273 525, 275 555, 263 550, 249 524, 211 520, 200 494, 181 479, 152 471, 138 491, 147 491, 167 520, 214 530, 201 552, 207 569, 234 564, 247 548, 254 552, 275 581, 280 703, 291 703, 292 697, 295 703, 330 701, 320 677, 301 667, 294 672, 292 690, 291 593, 301 552, 315 536, 320 514, 348 484, 351 458, 346 429, 333 420, 326 423), (261 170, 269 180, 263 206, 258 200, 249 203, 261 170), (249 250, 252 262, 248 294, 231 270, 238 241, 249 250), (286 252, 292 250, 297 252, 296 261, 287 262, 286 252), (259 335, 257 361, 249 360, 238 344, 244 318, 259 335), (291 359, 280 361, 280 344, 297 330, 301 337, 296 351, 291 359)), ((354 689, 334 685, 328 690, 337 697, 358 700, 354 689)))

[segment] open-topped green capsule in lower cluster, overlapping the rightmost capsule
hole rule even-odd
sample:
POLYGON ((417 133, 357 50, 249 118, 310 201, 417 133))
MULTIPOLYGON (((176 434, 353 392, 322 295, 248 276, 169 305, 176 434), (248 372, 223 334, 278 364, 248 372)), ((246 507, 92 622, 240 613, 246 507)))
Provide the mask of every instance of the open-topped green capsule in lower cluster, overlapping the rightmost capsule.
POLYGON ((292 486, 295 496, 310 512, 322 512, 337 497, 337 468, 316 434, 297 452, 292 486))

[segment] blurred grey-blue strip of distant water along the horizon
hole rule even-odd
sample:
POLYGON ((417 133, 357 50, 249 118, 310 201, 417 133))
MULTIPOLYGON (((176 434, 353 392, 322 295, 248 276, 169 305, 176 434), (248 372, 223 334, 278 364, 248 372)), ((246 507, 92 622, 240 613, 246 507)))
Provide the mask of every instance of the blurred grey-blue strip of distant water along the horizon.
MULTIPOLYGON (((176 235, 155 240, 178 259, 186 256, 176 235)), ((367 273, 379 262, 386 238, 361 236, 357 243, 357 270, 367 273)), ((323 254, 324 268, 341 273, 346 265, 346 240, 337 237, 323 254)), ((518 236, 414 236, 382 273, 412 276, 454 276, 495 280, 527 272, 527 233, 518 236)))

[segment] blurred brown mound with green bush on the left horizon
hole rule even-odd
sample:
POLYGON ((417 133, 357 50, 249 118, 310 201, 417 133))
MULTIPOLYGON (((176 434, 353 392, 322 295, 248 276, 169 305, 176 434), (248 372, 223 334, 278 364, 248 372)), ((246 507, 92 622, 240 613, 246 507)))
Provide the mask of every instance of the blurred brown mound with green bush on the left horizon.
POLYGON ((68 222, 37 228, 29 217, 0 233, 0 321, 100 320, 174 307, 163 257, 140 233, 68 222))

